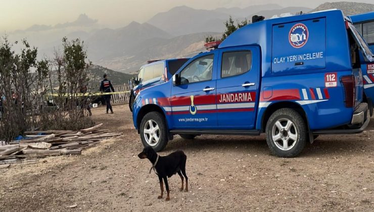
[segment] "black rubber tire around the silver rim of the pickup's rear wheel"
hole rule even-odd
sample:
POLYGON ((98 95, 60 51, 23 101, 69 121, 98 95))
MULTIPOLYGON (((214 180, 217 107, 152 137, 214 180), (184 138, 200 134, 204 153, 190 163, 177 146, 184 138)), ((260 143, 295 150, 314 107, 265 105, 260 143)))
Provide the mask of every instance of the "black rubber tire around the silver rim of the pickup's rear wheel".
MULTIPOLYGON (((284 122, 284 121, 282 121, 282 122, 284 122)), ((308 130, 307 130, 307 127, 306 127, 306 124, 305 124, 303 118, 295 110, 289 109, 289 108, 279 109, 279 110, 275 111, 270 116, 269 120, 267 121, 265 132, 266 132, 266 142, 267 142, 267 145, 270 148, 271 153, 275 154, 278 157, 295 157, 295 156, 297 156, 304 149, 306 141, 309 139, 308 138, 308 130), (296 141, 294 141, 292 143, 291 149, 287 149, 287 150, 283 150, 283 149, 278 148, 277 145, 275 144, 275 142, 273 141, 273 138, 272 138, 273 126, 275 126, 275 123, 277 121, 282 121, 282 120, 289 120, 289 121, 292 122, 293 125, 290 128, 290 131, 291 130, 295 131, 296 133, 293 133, 293 134, 296 135, 295 137, 297 137, 296 141)), ((275 130, 274 134, 277 134, 276 132, 277 131, 275 130)), ((291 135, 291 134, 289 135, 287 132, 286 132, 286 134, 287 134, 287 137, 291 135)), ((279 131, 279 136, 280 135, 284 135, 284 134, 282 134, 282 132, 279 131)), ((277 141, 282 141, 282 139, 277 140, 277 141)), ((291 140, 291 142, 292 142, 292 140, 291 140)))

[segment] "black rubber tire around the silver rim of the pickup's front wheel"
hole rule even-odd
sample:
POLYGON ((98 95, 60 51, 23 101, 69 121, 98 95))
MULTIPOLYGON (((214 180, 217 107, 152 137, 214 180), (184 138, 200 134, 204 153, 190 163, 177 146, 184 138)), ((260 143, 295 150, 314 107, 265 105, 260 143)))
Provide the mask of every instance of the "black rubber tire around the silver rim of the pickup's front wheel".
POLYGON ((140 126, 140 134, 141 134, 143 146, 145 147, 151 146, 155 151, 163 150, 168 142, 167 126, 166 126, 166 121, 165 121, 164 116, 162 116, 158 112, 151 112, 151 113, 146 114, 142 119, 142 123, 140 126), (156 122, 159 127, 159 141, 156 143, 156 145, 149 145, 147 143, 147 140, 144 134, 144 128, 146 124, 148 123, 148 121, 150 120, 153 120, 154 122, 156 122))

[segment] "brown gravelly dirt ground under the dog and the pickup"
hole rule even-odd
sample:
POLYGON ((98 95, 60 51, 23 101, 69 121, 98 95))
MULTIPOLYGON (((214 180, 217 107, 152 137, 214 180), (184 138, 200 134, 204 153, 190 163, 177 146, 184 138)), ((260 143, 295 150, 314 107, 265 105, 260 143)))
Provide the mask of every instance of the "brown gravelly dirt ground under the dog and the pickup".
POLYGON ((128 105, 94 110, 123 133, 79 156, 0 169, 0 211, 374 211, 374 120, 359 135, 320 136, 297 158, 269 154, 264 136, 176 136, 161 155, 187 155, 189 192, 160 192, 128 105), (67 208, 76 204, 75 208, 67 208))

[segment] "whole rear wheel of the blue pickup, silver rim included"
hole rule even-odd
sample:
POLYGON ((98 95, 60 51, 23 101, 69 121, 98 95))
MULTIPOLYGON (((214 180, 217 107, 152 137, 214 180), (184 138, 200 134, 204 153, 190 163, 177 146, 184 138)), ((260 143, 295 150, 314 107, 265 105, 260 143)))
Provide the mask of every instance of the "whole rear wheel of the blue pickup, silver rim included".
POLYGON ((295 157, 308 139, 303 118, 293 109, 275 111, 266 124, 266 142, 278 157, 295 157))

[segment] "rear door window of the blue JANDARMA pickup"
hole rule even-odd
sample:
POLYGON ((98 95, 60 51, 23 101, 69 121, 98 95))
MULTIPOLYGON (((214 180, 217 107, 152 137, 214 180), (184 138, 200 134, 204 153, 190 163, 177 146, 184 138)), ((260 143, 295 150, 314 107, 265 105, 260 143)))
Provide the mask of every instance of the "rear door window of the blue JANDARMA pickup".
POLYGON ((222 54, 221 78, 244 74, 251 69, 251 51, 231 51, 222 54))

